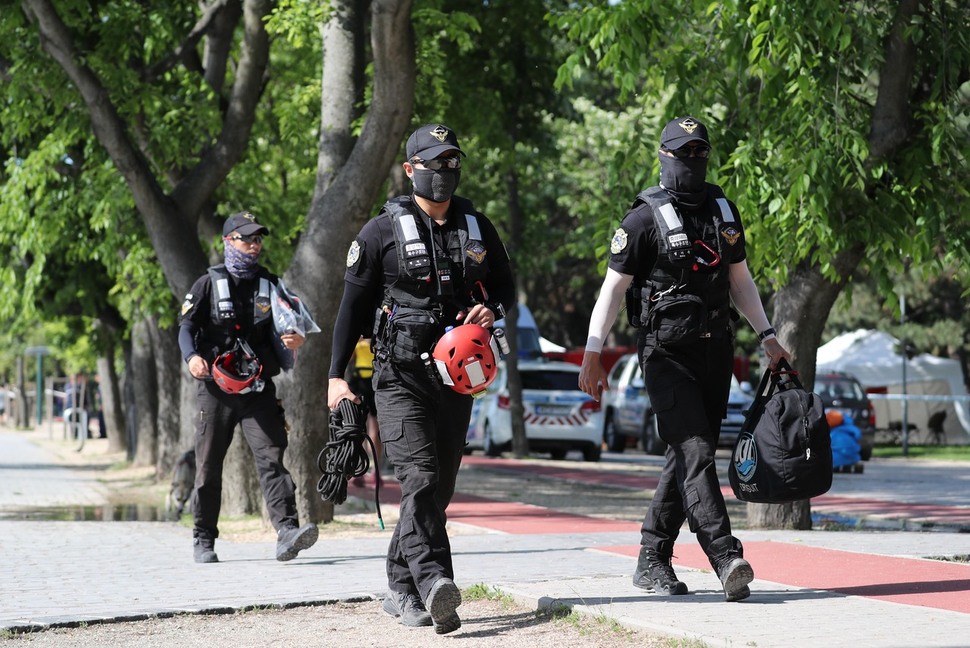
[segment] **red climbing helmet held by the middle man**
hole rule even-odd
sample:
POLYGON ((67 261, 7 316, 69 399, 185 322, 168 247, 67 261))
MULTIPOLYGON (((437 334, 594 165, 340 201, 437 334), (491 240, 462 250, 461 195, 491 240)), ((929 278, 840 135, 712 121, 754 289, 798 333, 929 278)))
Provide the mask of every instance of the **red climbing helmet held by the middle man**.
POLYGON ((498 375, 498 348, 492 334, 478 324, 463 324, 445 333, 433 355, 441 379, 459 394, 478 398, 498 375))

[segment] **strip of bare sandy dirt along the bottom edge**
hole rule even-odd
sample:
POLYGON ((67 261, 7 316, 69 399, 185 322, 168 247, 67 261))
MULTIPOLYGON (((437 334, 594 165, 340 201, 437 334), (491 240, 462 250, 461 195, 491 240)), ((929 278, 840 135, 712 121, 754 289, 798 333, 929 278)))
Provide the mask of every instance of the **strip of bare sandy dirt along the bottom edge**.
POLYGON ((688 648, 691 645, 628 630, 600 618, 537 613, 504 600, 466 601, 458 611, 462 628, 451 635, 436 635, 431 628, 404 627, 384 614, 379 603, 368 601, 62 628, 0 639, 0 645, 10 648, 20 645, 33 648, 688 648))

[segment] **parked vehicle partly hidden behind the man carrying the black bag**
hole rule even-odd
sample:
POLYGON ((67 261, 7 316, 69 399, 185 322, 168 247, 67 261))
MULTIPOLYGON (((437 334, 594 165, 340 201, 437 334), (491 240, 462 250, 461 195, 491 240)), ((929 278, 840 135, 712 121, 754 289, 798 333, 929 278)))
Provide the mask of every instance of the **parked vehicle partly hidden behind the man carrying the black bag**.
MULTIPOLYGON (((612 452, 623 452, 639 441, 647 454, 662 455, 667 444, 657 433, 657 417, 643 384, 637 354, 620 358, 608 374, 610 389, 603 395, 603 443, 612 452)), ((718 445, 731 447, 741 433, 744 416, 754 396, 731 376, 727 414, 721 421, 718 445)))

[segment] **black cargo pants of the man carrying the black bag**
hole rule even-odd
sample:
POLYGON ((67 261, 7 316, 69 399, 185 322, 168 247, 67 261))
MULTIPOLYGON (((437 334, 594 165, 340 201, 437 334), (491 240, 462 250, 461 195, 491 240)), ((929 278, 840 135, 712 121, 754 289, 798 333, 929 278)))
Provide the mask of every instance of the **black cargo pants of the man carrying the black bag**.
POLYGON ((702 338, 675 351, 649 343, 643 348, 642 342, 641 349, 644 383, 668 448, 640 543, 669 556, 687 521, 707 552, 711 542, 731 535, 714 451, 727 411, 734 344, 725 336, 702 338))

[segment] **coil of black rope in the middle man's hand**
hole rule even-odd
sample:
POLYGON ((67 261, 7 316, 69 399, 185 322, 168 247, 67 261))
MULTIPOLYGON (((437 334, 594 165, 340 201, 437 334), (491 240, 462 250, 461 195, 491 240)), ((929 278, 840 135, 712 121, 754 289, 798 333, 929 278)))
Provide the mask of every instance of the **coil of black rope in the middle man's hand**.
POLYGON ((343 504, 347 500, 347 482, 354 477, 362 477, 370 469, 374 457, 374 505, 377 507, 377 522, 384 529, 381 516, 381 479, 380 463, 374 442, 367 436, 367 410, 358 403, 343 399, 336 409, 330 410, 330 441, 317 456, 317 467, 323 475, 317 482, 320 497, 343 504), (370 446, 370 456, 364 442, 370 446))

